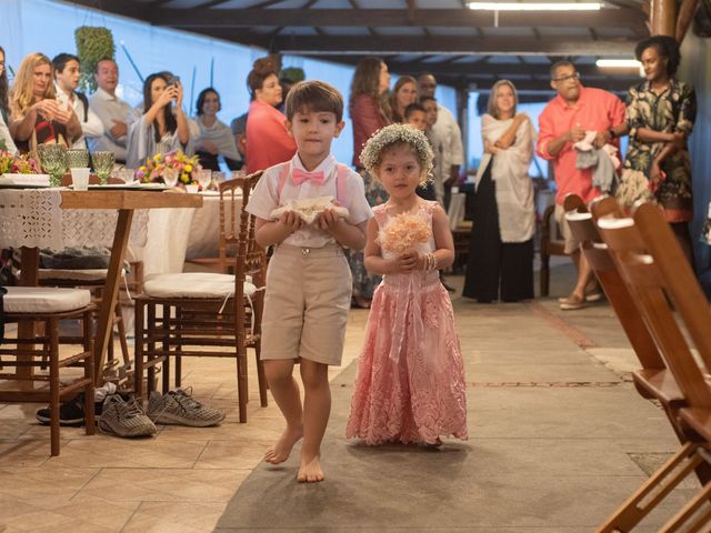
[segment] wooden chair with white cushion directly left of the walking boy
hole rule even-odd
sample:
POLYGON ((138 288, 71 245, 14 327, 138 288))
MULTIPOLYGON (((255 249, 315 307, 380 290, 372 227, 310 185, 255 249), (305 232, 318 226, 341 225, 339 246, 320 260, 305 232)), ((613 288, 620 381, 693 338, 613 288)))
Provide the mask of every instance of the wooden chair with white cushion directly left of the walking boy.
MULTIPOLYGON (((260 178, 261 171, 229 180, 221 183, 221 191, 226 194, 230 191, 232 195, 241 191, 243 205, 247 205, 260 178)), ((267 380, 259 359, 263 306, 260 289, 264 286, 266 254, 254 241, 254 217, 241 209, 239 220, 234 275, 193 272, 164 274, 146 281, 143 295, 136 299, 137 396, 143 394, 144 371, 148 392, 153 389, 159 363, 162 363, 163 392, 168 391, 170 358, 176 359, 177 386, 180 385, 181 358, 234 358, 240 422, 247 422, 247 349, 251 348, 257 355, 260 402, 267 406, 267 380), (198 346, 200 350, 196 350, 198 346)))

